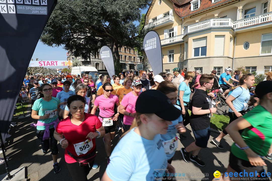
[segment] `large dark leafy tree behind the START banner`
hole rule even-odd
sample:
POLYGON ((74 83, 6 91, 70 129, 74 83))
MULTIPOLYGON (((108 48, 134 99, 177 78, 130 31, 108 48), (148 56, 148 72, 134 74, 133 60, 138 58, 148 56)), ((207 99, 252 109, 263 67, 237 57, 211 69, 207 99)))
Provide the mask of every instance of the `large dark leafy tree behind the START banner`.
POLYGON ((151 0, 59 0, 41 36, 48 46, 63 45, 75 57, 88 60, 102 46, 112 49, 120 72, 119 47, 136 47, 141 10, 151 0))

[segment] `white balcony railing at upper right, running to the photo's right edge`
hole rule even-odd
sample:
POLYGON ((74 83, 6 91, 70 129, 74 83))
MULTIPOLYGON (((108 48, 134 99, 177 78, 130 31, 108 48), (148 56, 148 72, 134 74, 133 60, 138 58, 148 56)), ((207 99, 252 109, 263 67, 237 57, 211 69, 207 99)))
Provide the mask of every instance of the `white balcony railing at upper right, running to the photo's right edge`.
POLYGON ((265 23, 268 21, 272 21, 272 13, 268 12, 265 14, 260 14, 257 16, 252 16, 249 18, 245 18, 242 20, 238 20, 238 21, 234 21, 233 23, 233 28, 243 28, 243 27, 247 27, 247 26, 252 26, 255 24, 260 24, 260 23, 265 23))

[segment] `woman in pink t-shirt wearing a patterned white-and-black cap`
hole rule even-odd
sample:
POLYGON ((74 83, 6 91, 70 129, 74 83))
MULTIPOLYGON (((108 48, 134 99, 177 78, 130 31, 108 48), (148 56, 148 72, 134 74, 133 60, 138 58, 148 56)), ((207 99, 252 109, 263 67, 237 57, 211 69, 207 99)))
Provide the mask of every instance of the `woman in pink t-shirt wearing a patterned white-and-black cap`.
POLYGON ((134 80, 132 82, 133 91, 123 97, 122 102, 119 106, 120 113, 124 115, 123 123, 125 132, 129 130, 132 121, 136 116, 135 105, 142 86, 143 84, 141 80, 134 80))

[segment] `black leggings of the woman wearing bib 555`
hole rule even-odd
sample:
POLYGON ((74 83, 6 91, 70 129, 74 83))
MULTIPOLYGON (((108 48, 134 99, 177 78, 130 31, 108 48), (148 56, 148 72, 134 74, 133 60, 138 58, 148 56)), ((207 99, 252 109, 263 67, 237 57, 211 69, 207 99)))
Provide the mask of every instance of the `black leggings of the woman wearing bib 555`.
POLYGON ((87 181, 87 175, 92 169, 92 165, 94 162, 90 163, 87 166, 79 166, 78 162, 75 163, 66 163, 67 168, 73 178, 74 181, 87 181))

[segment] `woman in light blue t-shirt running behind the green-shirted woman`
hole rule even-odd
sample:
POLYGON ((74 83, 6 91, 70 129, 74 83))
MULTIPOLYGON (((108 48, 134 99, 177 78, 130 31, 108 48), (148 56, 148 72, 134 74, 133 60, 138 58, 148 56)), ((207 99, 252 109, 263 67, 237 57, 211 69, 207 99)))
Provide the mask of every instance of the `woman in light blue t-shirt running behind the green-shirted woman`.
MULTIPOLYGON (((250 93, 248 87, 251 87, 255 83, 255 77, 253 74, 244 74, 240 80, 237 87, 235 87, 228 98, 226 103, 230 107, 228 115, 230 116, 230 122, 233 122, 237 118, 243 116, 243 113, 248 109, 248 101, 250 99, 250 93)), ((240 134, 243 130, 239 130, 240 134)), ((217 138, 214 138, 212 142, 220 149, 224 147, 221 145, 221 139, 227 135, 227 131, 224 129, 217 138)))

